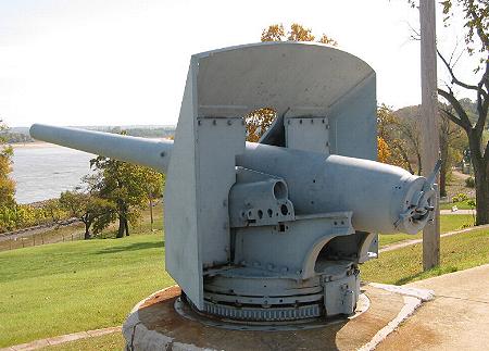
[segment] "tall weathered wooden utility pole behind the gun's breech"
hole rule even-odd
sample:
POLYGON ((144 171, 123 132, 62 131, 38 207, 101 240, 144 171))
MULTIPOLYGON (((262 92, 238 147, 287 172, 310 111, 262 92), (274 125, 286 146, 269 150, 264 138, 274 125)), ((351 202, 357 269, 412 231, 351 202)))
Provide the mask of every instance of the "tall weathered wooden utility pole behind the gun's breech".
MULTIPOLYGON (((439 159, 437 43, 435 0, 419 0, 421 24, 421 80, 422 80, 422 160, 423 175, 428 176, 439 159)), ((439 177, 438 177, 439 183, 439 177)), ((434 221, 423 230, 423 269, 440 263, 439 192, 434 221)))

